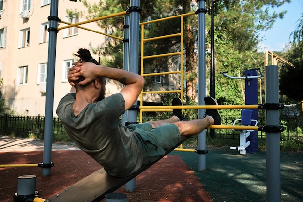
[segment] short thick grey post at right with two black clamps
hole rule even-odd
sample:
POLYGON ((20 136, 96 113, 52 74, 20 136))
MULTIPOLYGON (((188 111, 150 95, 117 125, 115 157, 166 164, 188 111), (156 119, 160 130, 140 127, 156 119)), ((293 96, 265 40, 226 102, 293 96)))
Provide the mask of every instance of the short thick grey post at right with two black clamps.
MULTIPOLYGON (((265 67, 265 103, 279 102, 278 66, 265 67)), ((280 125, 279 110, 266 110, 266 125, 280 125)), ((266 132, 267 202, 281 201, 280 133, 266 132)))

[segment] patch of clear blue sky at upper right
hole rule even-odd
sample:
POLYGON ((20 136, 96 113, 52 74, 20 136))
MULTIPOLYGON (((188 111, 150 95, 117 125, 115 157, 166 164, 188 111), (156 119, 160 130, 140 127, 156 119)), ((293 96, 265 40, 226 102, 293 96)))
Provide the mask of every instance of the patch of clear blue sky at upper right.
POLYGON ((270 30, 261 32, 260 35, 264 37, 259 48, 261 52, 266 50, 282 51, 285 44, 289 43, 289 36, 291 32, 295 31, 299 23, 298 20, 303 13, 303 0, 292 0, 291 3, 285 3, 275 9, 276 12, 282 10, 287 10, 284 18, 277 19, 270 30))

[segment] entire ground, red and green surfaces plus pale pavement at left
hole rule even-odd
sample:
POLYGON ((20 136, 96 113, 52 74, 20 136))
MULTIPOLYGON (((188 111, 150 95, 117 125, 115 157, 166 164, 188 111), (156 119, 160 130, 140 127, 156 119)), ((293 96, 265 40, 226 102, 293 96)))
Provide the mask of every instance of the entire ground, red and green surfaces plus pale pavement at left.
MULTIPOLYGON (((61 185, 62 187, 58 187, 58 190, 63 190, 65 186, 67 186, 64 185, 66 181, 68 181, 70 184, 75 183, 77 180, 100 168, 100 165, 98 165, 90 157, 84 154, 84 152, 79 151, 79 149, 74 145, 53 144, 52 150, 54 151, 52 158, 56 165, 52 169, 52 175, 55 177, 52 177, 51 180, 54 182, 44 182, 44 178, 38 178, 38 180, 43 181, 37 182, 43 185, 37 186, 39 187, 39 191, 41 191, 40 193, 42 194, 42 198, 47 198, 47 194, 52 196, 54 193, 56 193, 56 190, 53 190, 54 185, 56 187, 58 185, 61 185), (81 163, 79 163, 80 159, 82 159, 81 163), (62 164, 61 162, 64 163, 62 164), (67 169, 72 170, 69 171, 67 169), (68 178, 67 174, 73 174, 73 176, 70 176, 70 179, 66 180, 68 178), (81 176, 81 174, 83 176, 81 176), (58 182, 56 179, 63 179, 63 181, 58 182), (42 187, 45 186, 45 183, 52 188, 42 190, 42 187), (54 193, 47 193, 48 190, 52 190, 54 193)), ((24 162, 25 160, 28 162, 30 161, 30 157, 34 157, 34 159, 41 159, 42 153, 43 141, 41 140, 10 139, 0 136, 1 163, 15 164, 24 162), (9 152, 9 157, 6 152, 9 152)), ((138 192, 127 194, 129 201, 176 202, 177 200, 175 200, 175 198, 172 198, 172 193, 181 194, 178 196, 176 195, 176 197, 179 199, 182 197, 182 200, 179 200, 180 202, 266 201, 266 152, 261 151, 257 154, 239 155, 239 152, 235 150, 209 148, 209 153, 207 154, 207 171, 200 172, 197 171, 196 153, 193 154, 191 152, 173 151, 166 158, 163 158, 163 161, 159 162, 159 164, 155 165, 153 168, 143 172, 142 180, 138 180, 138 192), (175 164, 171 163, 172 159, 176 161, 175 164), (168 164, 167 161, 169 162, 168 164), (181 162, 186 164, 184 166, 181 166, 181 162), (179 166, 186 168, 187 170, 176 170, 180 169, 179 166), (170 174, 173 174, 173 176, 170 176, 170 174), (189 180, 190 177, 194 177, 194 175, 197 177, 197 179, 189 180), (159 181, 155 181, 155 179, 159 179, 159 181), (184 179, 184 182, 187 184, 185 185, 182 184, 184 182, 179 182, 178 180, 180 179, 184 179), (190 182, 187 182, 188 180, 190 182), (199 183, 197 183, 197 181, 199 181, 199 183), (195 185, 194 188, 198 189, 195 190, 192 186, 189 185, 195 185), (170 190, 164 191, 164 187, 170 187, 170 190), (203 190, 203 193, 200 193, 201 190, 203 190), (205 190, 208 193, 205 193, 205 190), (161 194, 159 193, 162 193, 164 195, 167 193, 170 194, 169 196, 166 196, 164 200, 161 200, 160 198, 157 198, 161 197, 161 194), (209 198, 208 194, 210 194, 211 198, 209 198), (188 196, 191 197, 192 201, 185 200, 185 198, 188 196), (199 197, 199 199, 194 198, 194 196, 199 197)), ((36 173, 38 174, 32 173, 32 171, 29 173, 39 176, 39 173, 41 172, 39 169, 40 168, 36 169, 36 173)), ((21 171, 25 172, 26 170, 25 168, 0 169, 0 202, 12 201, 10 196, 12 193, 15 193, 17 186, 16 182, 12 186, 8 186, 8 184, 11 183, 12 179, 17 179, 17 176, 23 175, 21 171), (7 181, 5 181, 5 179, 7 181), (9 188, 11 191, 8 191, 9 188), (7 193, 9 194, 9 196, 5 198, 7 201, 1 199, 1 197, 7 193)), ((303 202, 302 187, 303 153, 281 152, 281 201, 303 202)), ((123 188, 121 189, 118 191, 122 192, 123 188)))

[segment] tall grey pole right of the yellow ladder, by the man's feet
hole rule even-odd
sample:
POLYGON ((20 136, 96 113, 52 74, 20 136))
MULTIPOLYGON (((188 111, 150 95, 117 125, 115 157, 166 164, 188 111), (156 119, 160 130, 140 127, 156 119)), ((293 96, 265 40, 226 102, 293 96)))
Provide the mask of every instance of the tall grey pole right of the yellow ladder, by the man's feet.
MULTIPOLYGON (((205 0, 199 0, 198 9, 198 47, 199 47, 199 105, 205 105, 205 0)), ((198 110, 198 117, 203 117, 205 109, 198 110)), ((206 151, 206 133, 205 130, 198 135, 198 149, 206 151)), ((206 169, 206 154, 198 154, 198 170, 203 171, 206 169)))

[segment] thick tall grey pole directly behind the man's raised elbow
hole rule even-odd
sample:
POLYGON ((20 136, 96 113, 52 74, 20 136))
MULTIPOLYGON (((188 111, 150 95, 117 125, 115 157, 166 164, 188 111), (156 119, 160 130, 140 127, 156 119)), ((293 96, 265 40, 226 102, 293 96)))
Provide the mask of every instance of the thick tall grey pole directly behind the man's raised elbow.
MULTIPOLYGON (((130 0, 130 23, 129 23, 129 65, 131 72, 138 74, 139 72, 139 28, 140 28, 140 0, 130 0)), ((127 120, 136 122, 137 111, 129 110, 127 120)), ((136 188, 136 178, 132 179, 125 185, 126 191, 133 192, 136 188)))

